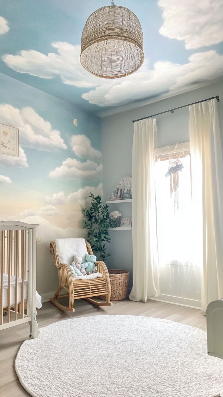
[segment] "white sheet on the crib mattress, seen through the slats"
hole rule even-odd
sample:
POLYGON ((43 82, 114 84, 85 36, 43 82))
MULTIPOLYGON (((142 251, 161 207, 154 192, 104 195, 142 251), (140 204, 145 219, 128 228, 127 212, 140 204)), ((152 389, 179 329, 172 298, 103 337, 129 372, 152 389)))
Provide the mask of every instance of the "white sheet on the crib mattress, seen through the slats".
MULTIPOLYGON (((1 279, 1 274, 0 274, 1 279)), ((17 301, 21 303, 21 278, 18 278, 18 289, 17 289, 17 301)), ((11 276, 10 282, 10 306, 15 304, 15 293, 16 293, 16 277, 11 276)), ((1 288, 1 287, 0 287, 1 288)), ((28 297, 28 282, 24 281, 24 301, 27 301, 28 297)), ((36 291, 37 309, 42 307, 41 296, 36 291)), ((3 308, 8 306, 8 274, 3 274, 3 308)))

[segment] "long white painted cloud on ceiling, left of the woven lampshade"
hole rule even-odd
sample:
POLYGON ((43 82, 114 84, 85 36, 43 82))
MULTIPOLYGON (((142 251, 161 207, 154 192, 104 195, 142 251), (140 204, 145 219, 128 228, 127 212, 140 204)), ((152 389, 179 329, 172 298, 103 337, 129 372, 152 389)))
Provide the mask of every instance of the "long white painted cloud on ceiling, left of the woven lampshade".
POLYGON ((53 42, 52 47, 58 54, 48 55, 35 50, 23 50, 18 55, 5 54, 2 60, 11 69, 20 73, 29 73, 42 79, 60 76, 64 84, 76 87, 95 87, 102 79, 88 73, 80 63, 80 45, 67 42, 53 42))

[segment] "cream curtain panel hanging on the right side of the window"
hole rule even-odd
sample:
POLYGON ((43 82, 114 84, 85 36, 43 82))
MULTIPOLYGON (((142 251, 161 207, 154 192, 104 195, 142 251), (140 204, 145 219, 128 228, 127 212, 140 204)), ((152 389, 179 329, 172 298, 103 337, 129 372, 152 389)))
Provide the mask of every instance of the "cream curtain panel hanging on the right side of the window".
POLYGON ((192 203, 201 266, 201 307, 223 298, 223 161, 217 101, 190 106, 192 203))

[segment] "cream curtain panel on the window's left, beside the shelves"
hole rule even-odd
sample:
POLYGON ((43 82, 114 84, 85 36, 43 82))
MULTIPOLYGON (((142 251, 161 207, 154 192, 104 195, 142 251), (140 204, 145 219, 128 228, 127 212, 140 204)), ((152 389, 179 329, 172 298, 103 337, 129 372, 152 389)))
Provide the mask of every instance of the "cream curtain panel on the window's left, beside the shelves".
POLYGON ((132 301, 159 295, 154 179, 155 119, 134 123, 132 148, 132 301))

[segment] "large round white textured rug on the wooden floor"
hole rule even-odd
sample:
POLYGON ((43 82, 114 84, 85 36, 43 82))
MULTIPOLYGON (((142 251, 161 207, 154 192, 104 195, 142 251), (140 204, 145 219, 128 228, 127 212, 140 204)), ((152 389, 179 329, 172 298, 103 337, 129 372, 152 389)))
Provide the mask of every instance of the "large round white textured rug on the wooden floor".
POLYGON ((206 333, 159 318, 93 316, 60 321, 25 341, 16 372, 34 397, 213 397, 223 360, 206 333))

